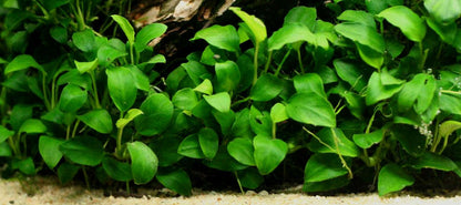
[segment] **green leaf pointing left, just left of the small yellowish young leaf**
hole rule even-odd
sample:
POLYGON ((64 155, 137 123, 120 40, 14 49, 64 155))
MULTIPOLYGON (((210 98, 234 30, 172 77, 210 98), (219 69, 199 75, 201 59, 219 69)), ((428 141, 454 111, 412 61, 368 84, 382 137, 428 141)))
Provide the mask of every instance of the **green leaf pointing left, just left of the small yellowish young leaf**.
POLYGON ((106 110, 93 110, 83 115, 78 115, 76 119, 102 134, 112 132, 112 117, 106 110))

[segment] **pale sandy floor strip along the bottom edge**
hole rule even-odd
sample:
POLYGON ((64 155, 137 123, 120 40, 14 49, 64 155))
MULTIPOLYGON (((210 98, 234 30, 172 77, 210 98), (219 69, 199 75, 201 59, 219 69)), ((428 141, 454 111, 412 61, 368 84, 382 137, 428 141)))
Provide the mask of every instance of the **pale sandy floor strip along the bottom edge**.
POLYGON ((257 204, 370 204, 370 205, 457 205, 461 204, 461 192, 451 193, 445 196, 424 197, 416 194, 399 194, 389 197, 379 197, 378 194, 348 194, 339 196, 317 196, 303 194, 300 186, 286 189, 283 193, 259 193, 248 191, 246 194, 216 193, 193 191, 193 196, 171 196, 166 188, 161 191, 140 191, 144 195, 139 197, 114 197, 104 196, 102 189, 88 191, 76 185, 59 185, 55 178, 37 177, 32 181, 0 180, 0 205, 22 204, 152 204, 152 205, 204 205, 204 204, 232 204, 232 205, 257 205, 257 204))

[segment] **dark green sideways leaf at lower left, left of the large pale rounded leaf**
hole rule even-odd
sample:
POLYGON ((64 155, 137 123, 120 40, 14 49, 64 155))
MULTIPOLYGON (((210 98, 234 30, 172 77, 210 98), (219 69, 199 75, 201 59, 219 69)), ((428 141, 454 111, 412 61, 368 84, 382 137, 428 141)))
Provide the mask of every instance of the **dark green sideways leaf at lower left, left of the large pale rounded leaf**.
POLYGON ((92 136, 78 136, 65 141, 59 150, 70 161, 88 166, 96 166, 104 157, 102 143, 92 136))

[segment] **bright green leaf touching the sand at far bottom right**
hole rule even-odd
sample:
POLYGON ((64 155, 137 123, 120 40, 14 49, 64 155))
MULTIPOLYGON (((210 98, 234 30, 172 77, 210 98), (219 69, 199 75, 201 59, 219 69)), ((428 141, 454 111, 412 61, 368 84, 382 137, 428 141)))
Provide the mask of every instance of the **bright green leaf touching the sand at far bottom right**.
POLYGON ((413 183, 414 178, 407 174, 399 165, 393 163, 387 164, 379 171, 378 193, 380 196, 383 196, 391 192, 401 191, 413 183))

